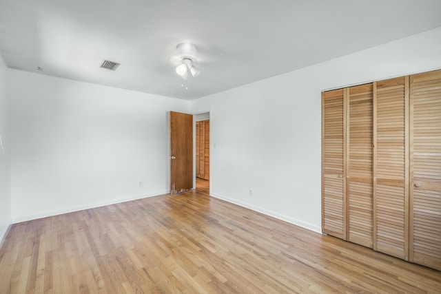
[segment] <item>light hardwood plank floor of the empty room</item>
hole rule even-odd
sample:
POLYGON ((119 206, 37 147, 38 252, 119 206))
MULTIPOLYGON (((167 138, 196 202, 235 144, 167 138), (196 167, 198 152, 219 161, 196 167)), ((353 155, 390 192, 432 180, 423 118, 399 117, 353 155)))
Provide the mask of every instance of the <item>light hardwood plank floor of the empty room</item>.
POLYGON ((440 271, 206 191, 14 224, 0 293, 441 293, 440 271))

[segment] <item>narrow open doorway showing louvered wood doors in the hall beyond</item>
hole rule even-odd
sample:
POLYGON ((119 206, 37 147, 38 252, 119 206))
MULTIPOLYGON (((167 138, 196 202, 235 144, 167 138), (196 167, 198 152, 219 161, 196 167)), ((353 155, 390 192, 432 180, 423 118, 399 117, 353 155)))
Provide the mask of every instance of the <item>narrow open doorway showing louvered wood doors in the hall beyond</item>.
POLYGON ((195 114, 196 190, 209 194, 209 113, 195 114))

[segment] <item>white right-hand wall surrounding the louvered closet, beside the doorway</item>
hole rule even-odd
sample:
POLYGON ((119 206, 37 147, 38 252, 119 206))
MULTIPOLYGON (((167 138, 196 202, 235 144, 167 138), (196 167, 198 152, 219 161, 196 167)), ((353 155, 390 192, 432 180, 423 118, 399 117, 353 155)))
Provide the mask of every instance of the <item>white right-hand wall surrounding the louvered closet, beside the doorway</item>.
POLYGON ((441 28, 192 101, 210 109, 212 196, 321 231, 320 92, 438 68, 441 28))

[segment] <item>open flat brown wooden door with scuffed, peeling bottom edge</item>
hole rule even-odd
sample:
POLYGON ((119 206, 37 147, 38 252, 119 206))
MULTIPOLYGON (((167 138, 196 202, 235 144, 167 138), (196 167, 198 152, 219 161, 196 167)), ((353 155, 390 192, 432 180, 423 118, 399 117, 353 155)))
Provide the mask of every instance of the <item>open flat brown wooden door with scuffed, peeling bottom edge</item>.
POLYGON ((170 193, 193 189, 193 116, 170 112, 170 193))

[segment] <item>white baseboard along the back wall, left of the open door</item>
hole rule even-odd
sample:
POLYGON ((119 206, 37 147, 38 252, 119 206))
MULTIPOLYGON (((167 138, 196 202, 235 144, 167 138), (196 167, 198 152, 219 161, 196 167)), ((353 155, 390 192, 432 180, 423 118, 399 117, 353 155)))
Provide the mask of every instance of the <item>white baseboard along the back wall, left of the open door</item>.
POLYGON ((39 218, 48 218, 49 216, 59 216, 60 214, 64 214, 64 213, 71 213, 71 212, 81 211, 81 210, 85 210, 85 209, 103 207, 106 205, 122 203, 122 202, 127 202, 127 201, 132 201, 132 200, 138 200, 138 199, 143 199, 143 198, 149 198, 149 197, 163 195, 163 194, 167 194, 167 193, 170 193, 170 191, 159 191, 156 193, 150 193, 149 195, 133 196, 133 197, 129 197, 129 198, 119 198, 119 199, 114 199, 114 200, 110 200, 110 201, 98 202, 98 203, 94 203, 94 204, 81 205, 78 207, 70 207, 68 209, 60 209, 57 211, 47 211, 44 213, 34 214, 32 216, 22 216, 19 218, 12 218, 12 223, 17 224, 19 222, 27 222, 28 220, 37 220, 39 218))

